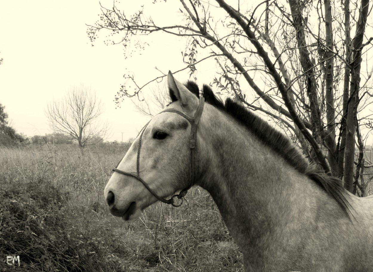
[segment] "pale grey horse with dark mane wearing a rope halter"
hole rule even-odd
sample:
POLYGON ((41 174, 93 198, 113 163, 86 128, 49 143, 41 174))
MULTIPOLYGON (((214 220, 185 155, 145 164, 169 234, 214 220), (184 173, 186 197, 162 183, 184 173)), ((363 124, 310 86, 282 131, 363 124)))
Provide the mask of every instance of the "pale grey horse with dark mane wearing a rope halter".
POLYGON ((133 221, 159 200, 179 206, 198 185, 219 208, 245 271, 373 271, 373 198, 344 190, 241 103, 223 103, 208 85, 202 96, 170 72, 167 83, 172 102, 104 189, 112 215, 133 221))

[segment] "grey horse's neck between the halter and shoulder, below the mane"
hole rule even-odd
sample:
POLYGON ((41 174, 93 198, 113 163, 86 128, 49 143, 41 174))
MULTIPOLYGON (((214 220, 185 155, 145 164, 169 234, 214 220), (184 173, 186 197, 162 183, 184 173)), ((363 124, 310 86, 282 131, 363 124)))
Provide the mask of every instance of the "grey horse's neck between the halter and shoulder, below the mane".
POLYGON ((244 243, 239 244, 243 250, 248 240, 259 243, 259 237, 272 235, 274 226, 303 213, 294 207, 307 206, 300 205, 307 196, 299 198, 314 184, 304 182, 305 176, 247 129, 221 113, 220 120, 216 116, 201 132, 201 153, 207 156, 201 158, 198 185, 209 191, 236 242, 244 243))

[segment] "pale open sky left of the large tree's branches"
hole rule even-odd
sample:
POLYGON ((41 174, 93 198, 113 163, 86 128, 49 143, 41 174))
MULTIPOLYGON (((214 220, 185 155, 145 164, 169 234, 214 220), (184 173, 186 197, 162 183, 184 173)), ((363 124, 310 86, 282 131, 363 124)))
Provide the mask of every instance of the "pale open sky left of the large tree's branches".
MULTIPOLYGON (((110 7, 113 2, 101 3, 110 7)), ((138 5, 128 8, 135 11, 138 5)), ((130 99, 115 108, 123 74, 131 72, 145 83, 161 75, 154 69, 156 63, 164 73, 176 70, 182 63, 173 60, 181 59, 181 49, 156 40, 151 44, 159 52, 156 56, 145 50, 126 59, 121 45, 106 46, 101 40, 92 46, 86 24, 94 24, 100 13, 98 0, 0 1, 0 103, 17 132, 28 137, 51 133, 47 104, 81 84, 104 105, 100 119, 111 128, 106 140, 136 137, 147 122, 149 117, 138 112, 130 99)))

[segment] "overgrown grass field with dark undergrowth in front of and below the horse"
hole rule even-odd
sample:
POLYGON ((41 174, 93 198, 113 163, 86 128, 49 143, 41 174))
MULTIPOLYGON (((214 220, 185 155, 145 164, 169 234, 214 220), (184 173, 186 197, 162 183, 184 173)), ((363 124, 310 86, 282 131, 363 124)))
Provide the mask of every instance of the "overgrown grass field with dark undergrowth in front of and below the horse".
POLYGON ((187 204, 154 204, 135 222, 109 214, 103 189, 127 148, 0 148, 0 271, 243 271, 200 188, 187 204))

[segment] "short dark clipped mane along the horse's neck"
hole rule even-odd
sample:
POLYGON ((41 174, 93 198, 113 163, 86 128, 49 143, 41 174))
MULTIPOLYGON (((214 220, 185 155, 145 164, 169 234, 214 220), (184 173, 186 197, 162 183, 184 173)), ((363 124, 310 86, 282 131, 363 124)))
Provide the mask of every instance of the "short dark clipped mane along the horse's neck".
MULTIPOLYGON (((195 82, 188 81, 185 87, 197 97, 200 96, 198 85, 195 82)), ((272 150, 280 155, 289 165, 299 172, 304 173, 308 178, 320 185, 321 188, 337 201, 339 206, 341 206, 342 210, 349 217, 350 203, 348 203, 345 197, 345 190, 338 178, 328 176, 317 169, 316 165, 310 164, 288 137, 273 128, 268 122, 254 114, 243 104, 233 101, 230 98, 226 99, 225 103, 223 103, 220 98, 215 96, 208 85, 203 85, 203 96, 206 103, 230 115, 239 124, 256 135, 261 143, 272 148, 272 150)))

